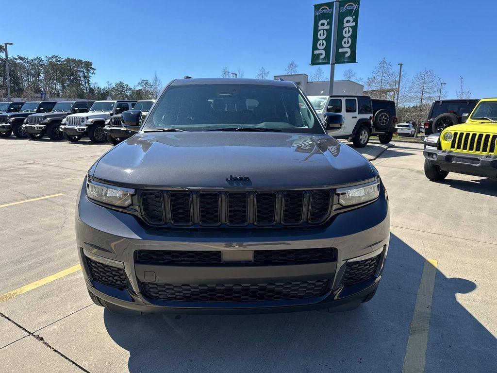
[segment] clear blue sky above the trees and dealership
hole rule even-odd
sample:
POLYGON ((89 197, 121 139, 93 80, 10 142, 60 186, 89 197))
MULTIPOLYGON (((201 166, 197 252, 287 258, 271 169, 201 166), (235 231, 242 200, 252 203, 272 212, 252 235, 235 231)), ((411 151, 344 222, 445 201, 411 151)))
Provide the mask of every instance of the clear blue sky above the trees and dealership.
MULTIPOLYGON (((93 62, 101 86, 124 81, 218 77, 224 66, 254 77, 263 66, 284 74, 294 60, 311 74, 311 0, 128 1, 24 0, 3 13, 0 42, 9 55, 74 57, 93 62)), ((319 2, 319 1, 318 1, 319 2)), ((413 76, 433 69, 455 96, 459 76, 475 98, 497 96, 497 2, 362 0, 356 64, 337 65, 367 78, 385 57, 413 76), (487 20, 486 20, 487 18, 487 20)), ((328 74, 328 66, 323 67, 328 74)))

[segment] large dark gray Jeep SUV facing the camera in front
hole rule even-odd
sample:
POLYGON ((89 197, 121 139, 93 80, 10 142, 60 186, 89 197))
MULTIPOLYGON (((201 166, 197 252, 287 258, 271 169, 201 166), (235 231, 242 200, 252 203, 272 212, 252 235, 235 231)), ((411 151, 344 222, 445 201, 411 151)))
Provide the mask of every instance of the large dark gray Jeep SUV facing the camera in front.
POLYGON ((122 119, 137 134, 93 164, 78 196, 77 247, 96 304, 247 313, 372 298, 387 192, 293 82, 174 80, 143 123, 139 110, 122 119))

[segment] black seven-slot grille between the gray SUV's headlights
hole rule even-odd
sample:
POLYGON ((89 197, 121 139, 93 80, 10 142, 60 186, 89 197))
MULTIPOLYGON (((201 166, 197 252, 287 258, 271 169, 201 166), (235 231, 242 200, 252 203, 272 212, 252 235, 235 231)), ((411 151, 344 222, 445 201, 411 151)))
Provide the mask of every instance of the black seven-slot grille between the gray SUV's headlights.
POLYGON ((256 226, 319 224, 331 211, 330 190, 142 190, 142 217, 149 224, 256 226))

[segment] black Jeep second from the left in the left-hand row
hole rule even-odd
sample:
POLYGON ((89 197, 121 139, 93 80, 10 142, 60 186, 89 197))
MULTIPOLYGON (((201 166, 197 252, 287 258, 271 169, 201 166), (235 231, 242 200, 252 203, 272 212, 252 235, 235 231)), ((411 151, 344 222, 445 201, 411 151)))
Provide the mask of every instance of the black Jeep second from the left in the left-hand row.
POLYGON ((28 135, 22 128, 22 124, 28 115, 50 112, 56 103, 55 101, 29 101, 22 105, 19 112, 0 114, 0 137, 9 137, 13 132, 18 139, 25 139, 28 135))

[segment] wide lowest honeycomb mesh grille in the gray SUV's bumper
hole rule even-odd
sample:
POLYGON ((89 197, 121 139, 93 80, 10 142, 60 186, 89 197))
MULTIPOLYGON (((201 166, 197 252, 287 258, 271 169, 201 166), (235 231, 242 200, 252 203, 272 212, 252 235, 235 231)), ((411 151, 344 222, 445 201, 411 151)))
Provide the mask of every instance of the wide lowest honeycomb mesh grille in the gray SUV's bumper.
POLYGON ((143 282, 154 299, 191 302, 247 302, 312 298, 328 291, 329 280, 245 284, 168 284, 143 282))

